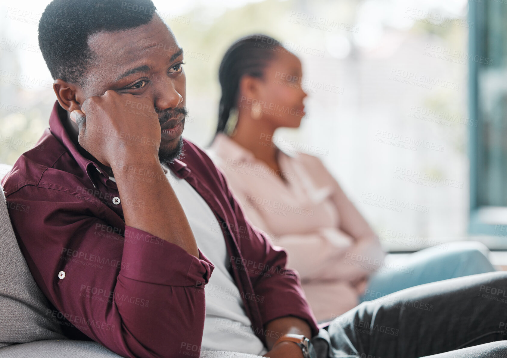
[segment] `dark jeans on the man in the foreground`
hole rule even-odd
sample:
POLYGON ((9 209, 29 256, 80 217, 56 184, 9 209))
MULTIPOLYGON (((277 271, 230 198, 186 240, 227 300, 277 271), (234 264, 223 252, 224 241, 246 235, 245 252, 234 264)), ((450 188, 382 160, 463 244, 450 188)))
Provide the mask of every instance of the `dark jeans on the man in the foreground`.
POLYGON ((507 357, 507 272, 407 288, 335 318, 318 358, 507 357))

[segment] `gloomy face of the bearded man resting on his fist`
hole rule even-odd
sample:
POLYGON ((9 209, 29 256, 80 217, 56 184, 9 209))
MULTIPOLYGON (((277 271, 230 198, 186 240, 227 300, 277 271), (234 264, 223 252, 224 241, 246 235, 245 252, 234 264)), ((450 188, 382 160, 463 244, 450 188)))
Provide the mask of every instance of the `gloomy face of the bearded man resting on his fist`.
POLYGON ((172 161, 183 144, 187 110, 183 50, 170 29, 154 15, 146 25, 99 32, 88 44, 97 61, 87 72, 85 97, 113 89, 151 99, 162 128, 160 162, 172 161))

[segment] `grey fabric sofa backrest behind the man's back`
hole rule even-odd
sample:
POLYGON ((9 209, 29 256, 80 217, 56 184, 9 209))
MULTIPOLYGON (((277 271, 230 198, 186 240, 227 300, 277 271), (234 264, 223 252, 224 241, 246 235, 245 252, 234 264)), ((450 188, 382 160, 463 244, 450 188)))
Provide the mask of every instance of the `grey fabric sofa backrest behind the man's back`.
MULTIPOLYGON (((0 179, 10 166, 0 164, 0 179)), ((42 339, 66 339, 49 302, 30 274, 0 190, 0 348, 42 339)))

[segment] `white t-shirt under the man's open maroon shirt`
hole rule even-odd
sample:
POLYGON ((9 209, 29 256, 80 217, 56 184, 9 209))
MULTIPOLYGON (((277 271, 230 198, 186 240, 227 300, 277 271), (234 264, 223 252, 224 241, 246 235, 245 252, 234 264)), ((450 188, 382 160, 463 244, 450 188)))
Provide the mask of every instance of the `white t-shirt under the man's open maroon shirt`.
POLYGON ((227 271, 227 248, 218 220, 204 199, 185 179, 179 179, 170 169, 165 166, 163 168, 187 216, 197 247, 215 267, 209 282, 204 286, 206 317, 201 350, 263 355, 267 350, 253 333, 239 289, 227 271))

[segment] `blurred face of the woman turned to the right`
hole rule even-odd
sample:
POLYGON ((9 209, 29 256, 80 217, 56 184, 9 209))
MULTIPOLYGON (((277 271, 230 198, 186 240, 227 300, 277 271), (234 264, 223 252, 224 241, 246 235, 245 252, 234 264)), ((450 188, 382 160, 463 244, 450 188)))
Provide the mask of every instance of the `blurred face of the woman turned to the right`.
POLYGON ((264 69, 259 99, 264 102, 261 104, 261 120, 270 121, 275 128, 297 128, 305 115, 303 99, 306 93, 301 88, 301 61, 292 53, 279 49, 264 69))

